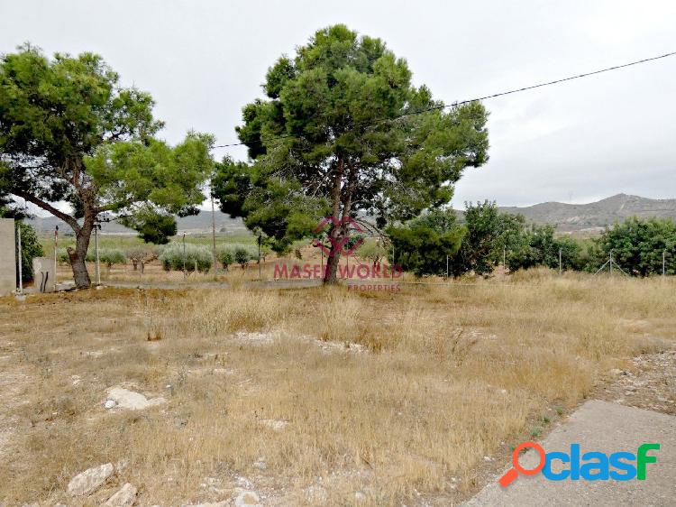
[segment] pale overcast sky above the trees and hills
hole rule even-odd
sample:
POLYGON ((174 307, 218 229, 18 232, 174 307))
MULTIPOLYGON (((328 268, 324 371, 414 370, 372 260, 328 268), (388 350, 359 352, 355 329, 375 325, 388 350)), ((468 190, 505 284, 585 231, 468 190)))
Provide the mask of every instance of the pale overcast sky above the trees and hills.
MULTIPOLYGON (((0 52, 95 51, 151 92, 170 143, 189 129, 233 143, 268 67, 329 24, 387 41, 416 85, 452 103, 676 51, 675 20, 672 0, 0 0, 0 52)), ((675 90, 673 56, 486 101, 490 161, 466 171, 453 206, 676 198, 675 90)))

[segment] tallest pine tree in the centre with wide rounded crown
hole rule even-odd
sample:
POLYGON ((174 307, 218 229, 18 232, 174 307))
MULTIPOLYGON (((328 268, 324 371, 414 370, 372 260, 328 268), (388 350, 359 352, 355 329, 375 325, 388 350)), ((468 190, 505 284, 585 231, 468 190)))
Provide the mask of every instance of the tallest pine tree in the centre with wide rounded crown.
POLYGON ((332 217, 326 283, 336 281, 357 211, 380 227, 416 217, 447 203, 462 171, 488 160, 480 103, 443 109, 411 84, 406 60, 342 24, 315 32, 295 58, 282 56, 263 90, 267 98, 244 106, 237 128, 252 163, 218 164, 214 193, 278 252, 332 217))

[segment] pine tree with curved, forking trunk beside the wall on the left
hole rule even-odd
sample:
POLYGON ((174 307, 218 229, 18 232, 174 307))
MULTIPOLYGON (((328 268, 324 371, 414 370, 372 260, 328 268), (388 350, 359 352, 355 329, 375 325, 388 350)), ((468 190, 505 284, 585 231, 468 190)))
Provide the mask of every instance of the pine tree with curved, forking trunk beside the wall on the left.
POLYGON ((151 96, 118 80, 92 53, 50 60, 26 44, 0 58, 0 195, 24 198, 73 229, 78 287, 90 285, 85 256, 99 215, 194 211, 213 169, 210 136, 188 134, 176 147, 153 138, 162 124, 151 96))

